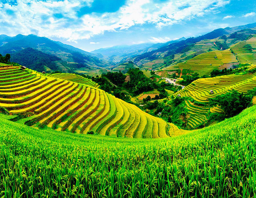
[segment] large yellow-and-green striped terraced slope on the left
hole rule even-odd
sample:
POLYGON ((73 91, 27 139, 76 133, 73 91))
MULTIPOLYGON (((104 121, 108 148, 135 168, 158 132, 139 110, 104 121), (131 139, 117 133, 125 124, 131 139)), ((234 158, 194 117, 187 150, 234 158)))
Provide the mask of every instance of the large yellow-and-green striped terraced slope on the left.
POLYGON ((77 75, 0 68, 0 106, 12 114, 32 114, 19 120, 29 126, 149 138, 168 137, 177 130, 173 124, 96 87, 77 75))

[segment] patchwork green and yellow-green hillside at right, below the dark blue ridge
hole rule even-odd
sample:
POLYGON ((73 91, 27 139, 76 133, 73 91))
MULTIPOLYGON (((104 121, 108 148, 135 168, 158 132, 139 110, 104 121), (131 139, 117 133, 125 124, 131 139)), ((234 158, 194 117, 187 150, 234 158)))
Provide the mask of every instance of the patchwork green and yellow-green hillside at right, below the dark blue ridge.
MULTIPOLYGON (((246 51, 244 46, 255 46, 255 33, 256 29, 245 29, 216 39, 200 41, 189 47, 186 52, 175 54, 171 61, 165 65, 162 63, 160 68, 168 74, 179 69, 190 69, 200 76, 208 76, 213 69, 222 70, 235 68, 239 64, 254 64, 256 57, 253 48, 246 51)), ((152 67, 152 64, 157 67, 157 61, 161 59, 149 62, 143 67, 152 67)))

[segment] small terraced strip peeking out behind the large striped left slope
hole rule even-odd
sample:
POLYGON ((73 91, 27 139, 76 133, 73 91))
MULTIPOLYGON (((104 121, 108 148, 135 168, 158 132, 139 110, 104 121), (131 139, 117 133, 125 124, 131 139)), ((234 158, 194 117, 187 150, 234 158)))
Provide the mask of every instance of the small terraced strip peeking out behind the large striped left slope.
POLYGON ((58 79, 63 79, 63 80, 67 80, 67 81, 72 81, 75 83, 81 83, 84 85, 90 85, 95 88, 99 87, 99 85, 97 83, 93 82, 92 80, 84 78, 84 77, 76 75, 76 74, 57 73, 57 74, 48 74, 47 76, 58 78, 58 79))

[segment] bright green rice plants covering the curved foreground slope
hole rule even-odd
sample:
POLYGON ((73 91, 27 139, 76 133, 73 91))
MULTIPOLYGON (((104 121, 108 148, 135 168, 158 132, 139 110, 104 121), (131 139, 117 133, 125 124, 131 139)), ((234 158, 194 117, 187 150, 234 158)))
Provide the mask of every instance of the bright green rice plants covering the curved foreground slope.
POLYGON ((1 197, 255 197, 256 106, 178 137, 39 130, 0 114, 1 197))

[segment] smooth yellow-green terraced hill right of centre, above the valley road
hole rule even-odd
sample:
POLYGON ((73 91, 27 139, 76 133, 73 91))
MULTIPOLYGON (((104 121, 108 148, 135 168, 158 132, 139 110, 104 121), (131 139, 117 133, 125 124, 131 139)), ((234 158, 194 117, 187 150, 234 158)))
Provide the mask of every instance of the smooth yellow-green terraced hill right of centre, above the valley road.
POLYGON ((202 76, 209 75, 212 70, 218 69, 220 66, 230 63, 238 63, 235 55, 232 54, 230 50, 212 51, 200 54, 188 61, 171 65, 163 70, 190 69, 202 76))

